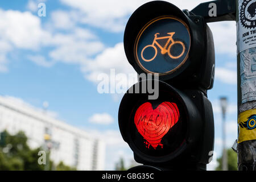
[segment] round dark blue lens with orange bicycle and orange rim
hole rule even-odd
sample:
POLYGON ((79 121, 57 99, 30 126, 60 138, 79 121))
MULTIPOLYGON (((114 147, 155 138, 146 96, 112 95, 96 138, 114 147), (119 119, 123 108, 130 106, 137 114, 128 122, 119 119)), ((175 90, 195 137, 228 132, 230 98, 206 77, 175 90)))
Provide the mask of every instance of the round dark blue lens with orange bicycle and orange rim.
POLYGON ((185 63, 190 49, 188 26, 174 16, 160 16, 147 23, 135 42, 135 60, 148 73, 164 75, 185 63))

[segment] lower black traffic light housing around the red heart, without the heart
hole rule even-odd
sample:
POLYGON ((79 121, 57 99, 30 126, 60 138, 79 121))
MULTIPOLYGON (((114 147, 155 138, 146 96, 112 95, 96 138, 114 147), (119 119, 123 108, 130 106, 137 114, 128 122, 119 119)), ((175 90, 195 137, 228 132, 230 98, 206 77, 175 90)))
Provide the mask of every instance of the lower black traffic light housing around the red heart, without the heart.
MULTIPOLYGON (((138 85, 142 88, 143 82, 147 80, 138 82, 129 90, 138 85)), ((214 140, 212 105, 207 97, 200 90, 181 91, 162 81, 159 81, 158 99, 148 100, 149 94, 126 93, 119 106, 119 129, 133 150, 134 159, 162 169, 205 169, 212 156, 209 152, 213 151, 214 140), (162 138, 163 149, 159 146, 156 149, 147 148, 134 124, 135 112, 145 102, 150 102, 155 109, 164 101, 177 104, 179 121, 162 138)))

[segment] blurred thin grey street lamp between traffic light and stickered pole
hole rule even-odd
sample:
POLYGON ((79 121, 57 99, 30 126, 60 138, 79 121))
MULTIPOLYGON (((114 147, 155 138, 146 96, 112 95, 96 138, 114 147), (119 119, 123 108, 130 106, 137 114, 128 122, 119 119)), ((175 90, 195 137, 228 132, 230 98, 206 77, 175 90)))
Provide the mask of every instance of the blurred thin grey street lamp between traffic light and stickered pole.
POLYGON ((220 97, 220 105, 221 105, 221 111, 222 111, 222 141, 223 141, 222 171, 228 171, 228 156, 226 154, 226 134, 225 134, 226 109, 228 107, 228 100, 226 97, 220 97))

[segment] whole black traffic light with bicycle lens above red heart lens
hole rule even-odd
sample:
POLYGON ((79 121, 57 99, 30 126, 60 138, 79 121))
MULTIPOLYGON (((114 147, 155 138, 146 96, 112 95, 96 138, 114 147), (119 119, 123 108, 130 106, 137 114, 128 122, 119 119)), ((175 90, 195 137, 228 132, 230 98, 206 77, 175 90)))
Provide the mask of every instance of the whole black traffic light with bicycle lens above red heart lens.
POLYGON ((119 129, 134 159, 159 169, 206 169, 214 142, 207 90, 213 86, 215 58, 204 18, 168 2, 148 2, 127 22, 124 46, 135 71, 147 76, 131 86, 119 106, 119 129), (149 85, 157 89, 154 100, 144 90, 149 85))

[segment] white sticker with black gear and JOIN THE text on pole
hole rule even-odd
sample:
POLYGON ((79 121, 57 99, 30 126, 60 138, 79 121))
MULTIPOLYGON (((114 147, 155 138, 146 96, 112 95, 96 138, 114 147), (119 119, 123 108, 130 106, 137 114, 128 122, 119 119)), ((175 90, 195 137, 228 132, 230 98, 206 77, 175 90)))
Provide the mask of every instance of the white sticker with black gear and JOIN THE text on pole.
POLYGON ((237 53, 256 47, 256 0, 238 1, 237 53))

